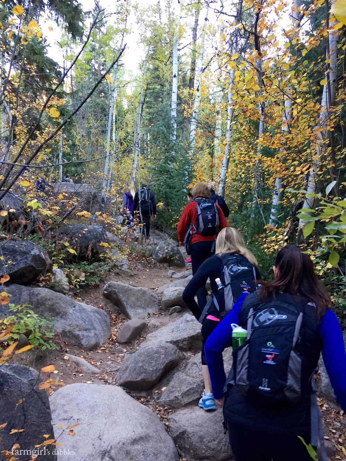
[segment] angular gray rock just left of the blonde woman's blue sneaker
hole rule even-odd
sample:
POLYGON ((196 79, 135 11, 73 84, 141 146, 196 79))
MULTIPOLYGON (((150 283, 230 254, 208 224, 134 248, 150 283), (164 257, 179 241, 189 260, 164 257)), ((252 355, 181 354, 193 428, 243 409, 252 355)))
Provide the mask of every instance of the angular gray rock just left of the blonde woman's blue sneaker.
POLYGON ((197 401, 203 391, 200 379, 191 378, 182 372, 174 373, 167 386, 163 387, 166 389, 161 390, 160 394, 154 392, 153 396, 159 405, 170 408, 184 407, 188 403, 197 401))

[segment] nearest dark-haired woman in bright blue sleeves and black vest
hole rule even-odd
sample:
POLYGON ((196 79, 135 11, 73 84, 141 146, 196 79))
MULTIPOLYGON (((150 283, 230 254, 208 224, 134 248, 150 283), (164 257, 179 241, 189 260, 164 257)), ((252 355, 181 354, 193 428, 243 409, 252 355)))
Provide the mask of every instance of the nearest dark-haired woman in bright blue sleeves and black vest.
POLYGON ((241 296, 207 340, 214 396, 219 404, 224 400, 237 461, 311 461, 299 437, 313 447, 320 443, 322 459, 327 459, 314 375, 322 351, 335 395, 346 410, 342 331, 307 254, 288 245, 273 269, 274 280, 241 296), (234 341, 226 380, 222 351, 232 345, 232 324, 246 329, 247 338, 241 345, 234 341))

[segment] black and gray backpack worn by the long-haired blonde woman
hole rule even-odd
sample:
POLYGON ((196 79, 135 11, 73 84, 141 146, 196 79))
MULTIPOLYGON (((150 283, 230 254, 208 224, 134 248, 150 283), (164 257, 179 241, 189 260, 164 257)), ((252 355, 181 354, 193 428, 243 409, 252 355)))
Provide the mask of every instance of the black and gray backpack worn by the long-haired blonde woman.
POLYGON ((199 319, 200 323, 203 323, 212 302, 219 311, 220 318, 222 319, 232 310, 239 296, 243 293, 252 293, 257 288, 256 268, 245 258, 245 256, 227 253, 222 256, 216 255, 216 257, 221 259, 222 262, 221 283, 223 288, 218 291, 218 294, 225 297, 225 308, 220 310, 216 297, 214 295, 211 296, 203 309, 199 319))

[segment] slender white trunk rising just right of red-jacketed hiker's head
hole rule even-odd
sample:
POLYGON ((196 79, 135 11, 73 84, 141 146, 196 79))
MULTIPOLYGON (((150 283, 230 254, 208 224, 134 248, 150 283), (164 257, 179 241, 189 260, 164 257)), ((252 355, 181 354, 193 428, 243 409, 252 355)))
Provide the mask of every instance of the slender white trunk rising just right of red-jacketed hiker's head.
MULTIPOLYGON (((236 26, 240 24, 242 12, 243 12, 243 0, 239 0, 238 9, 237 9, 237 17, 235 18, 236 26)), ((239 40, 240 40, 239 29, 235 29, 232 42, 231 42, 231 56, 237 53, 239 40)), ((235 69, 231 69, 229 73, 229 83, 228 83, 228 91, 227 91, 226 148, 225 148, 225 153, 223 156, 223 161, 222 161, 222 166, 221 166, 220 184, 219 184, 219 195, 222 195, 222 197, 225 195, 226 177, 227 177, 227 170, 228 170, 230 151, 231 151, 232 118, 233 118, 233 111, 234 111, 234 101, 232 99, 234 95, 234 89, 233 89, 234 74, 235 74, 235 69)))

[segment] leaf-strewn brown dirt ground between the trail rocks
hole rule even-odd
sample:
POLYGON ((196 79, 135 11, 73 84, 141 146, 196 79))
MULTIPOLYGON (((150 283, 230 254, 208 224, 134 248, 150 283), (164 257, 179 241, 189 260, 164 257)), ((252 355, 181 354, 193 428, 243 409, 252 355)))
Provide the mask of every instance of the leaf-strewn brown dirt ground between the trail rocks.
MULTIPOLYGON (((186 269, 188 269, 188 267, 186 267, 186 269)), ((176 272, 182 272, 186 269, 177 269, 176 272)), ((77 295, 73 296, 77 301, 85 302, 95 307, 101 307, 109 314, 111 318, 112 336, 109 338, 107 343, 94 351, 84 351, 83 349, 79 349, 77 347, 68 348, 65 343, 60 342, 60 350, 48 353, 48 355, 44 358, 44 361, 40 361, 35 367, 39 369, 41 366, 53 363, 55 370, 58 370, 58 375, 56 374, 54 376, 52 374, 48 376, 48 378, 57 378, 57 376, 59 376, 58 381, 64 383, 62 385, 72 383, 115 385, 117 382, 116 373, 121 366, 124 357, 138 349, 149 332, 166 325, 171 320, 176 320, 179 316, 183 315, 184 312, 179 314, 175 313, 172 316, 168 316, 167 313, 163 314, 159 312, 148 316, 148 318, 145 319, 148 323, 155 319, 154 328, 149 331, 147 331, 148 329, 145 329, 143 334, 134 342, 126 344, 125 346, 120 345, 116 342, 116 337, 126 319, 120 314, 115 314, 113 309, 111 309, 111 302, 102 296, 103 287, 107 282, 114 281, 123 282, 132 286, 149 288, 155 291, 162 285, 174 280, 168 277, 167 272, 167 265, 157 264, 151 258, 143 260, 130 255, 128 270, 124 270, 121 273, 109 273, 104 282, 99 286, 88 286, 83 290, 80 290, 77 295), (68 359, 66 354, 72 354, 84 358, 90 364, 97 367, 100 370, 100 373, 96 375, 84 373, 76 364, 72 363, 72 361, 68 359)), ((47 390, 48 394, 53 394, 55 390, 59 389, 59 387, 60 386, 58 385, 52 385, 51 388, 47 390)), ((143 396, 135 396, 130 392, 129 394, 153 410, 167 427, 168 423, 166 417, 168 414, 174 412, 174 410, 160 407, 148 393, 143 392, 143 396)), ((322 411, 322 420, 325 431, 324 438, 329 460, 345 460, 346 449, 344 445, 346 445, 346 416, 337 405, 325 401, 322 397, 318 397, 318 404, 322 411)))

